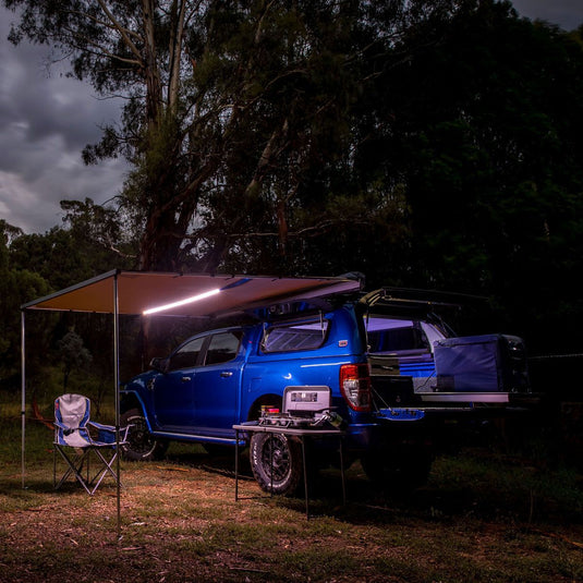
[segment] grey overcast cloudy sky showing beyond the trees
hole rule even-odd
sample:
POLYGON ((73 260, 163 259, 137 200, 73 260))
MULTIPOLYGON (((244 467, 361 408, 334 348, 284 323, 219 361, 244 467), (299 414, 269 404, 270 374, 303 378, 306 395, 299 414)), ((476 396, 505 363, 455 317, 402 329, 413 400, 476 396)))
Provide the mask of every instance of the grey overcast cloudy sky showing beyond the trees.
MULTIPOLYGON (((583 23, 583 0, 514 0, 523 16, 573 29, 583 23)), ((7 36, 11 12, 0 9, 0 219, 26 233, 61 224, 59 201, 104 203, 120 191, 123 161, 86 167, 81 150, 114 123, 120 104, 99 100, 92 88, 44 63, 46 47, 7 36)))

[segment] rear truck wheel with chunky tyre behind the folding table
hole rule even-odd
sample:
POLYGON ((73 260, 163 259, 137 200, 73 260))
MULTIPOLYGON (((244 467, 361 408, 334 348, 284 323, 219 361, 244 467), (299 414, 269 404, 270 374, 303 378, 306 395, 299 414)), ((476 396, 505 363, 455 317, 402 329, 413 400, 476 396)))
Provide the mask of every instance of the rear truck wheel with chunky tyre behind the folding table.
POLYGON ((255 433, 251 438, 250 461, 263 490, 292 496, 302 478, 301 444, 281 434, 255 433))

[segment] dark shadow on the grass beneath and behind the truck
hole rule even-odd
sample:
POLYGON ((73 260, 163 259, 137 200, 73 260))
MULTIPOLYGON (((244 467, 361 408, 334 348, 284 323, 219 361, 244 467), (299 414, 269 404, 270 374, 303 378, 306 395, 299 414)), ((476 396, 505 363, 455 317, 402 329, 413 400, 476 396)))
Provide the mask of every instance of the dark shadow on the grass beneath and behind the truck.
MULTIPOLYGON (((170 449, 166 463, 193 467, 234 481, 231 450, 170 449)), ((254 482, 248 456, 240 458, 239 479, 254 482)), ((354 523, 393 523, 403 517, 430 521, 464 518, 525 524, 583 524, 583 478, 572 469, 536 467, 529 460, 467 450, 439 457, 428 483, 399 491, 380 488, 359 462, 345 472, 347 505, 342 505, 339 470, 320 471, 308 481, 311 514, 326 514, 354 523)), ((233 483, 234 491, 234 483, 233 483)), ((257 486, 258 496, 293 510, 304 509, 303 491, 296 497, 271 497, 257 486)))

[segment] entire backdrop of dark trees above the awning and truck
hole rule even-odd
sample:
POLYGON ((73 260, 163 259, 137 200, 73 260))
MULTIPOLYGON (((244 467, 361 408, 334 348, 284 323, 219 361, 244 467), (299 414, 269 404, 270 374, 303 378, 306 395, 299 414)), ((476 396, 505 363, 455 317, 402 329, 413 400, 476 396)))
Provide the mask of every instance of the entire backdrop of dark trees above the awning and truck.
POLYGON ((581 351, 583 28, 493 0, 4 4, 13 41, 125 98, 84 156, 133 168, 109 205, 63 203, 65 229, 12 233, 12 269, 359 270, 581 351))

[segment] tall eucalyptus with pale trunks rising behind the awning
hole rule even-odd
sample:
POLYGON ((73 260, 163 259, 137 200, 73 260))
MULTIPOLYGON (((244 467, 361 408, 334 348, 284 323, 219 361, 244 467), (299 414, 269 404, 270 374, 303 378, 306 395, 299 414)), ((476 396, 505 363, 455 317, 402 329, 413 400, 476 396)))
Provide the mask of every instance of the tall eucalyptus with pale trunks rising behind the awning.
POLYGON ((290 241, 387 218, 378 175, 353 172, 354 105, 408 28, 460 3, 4 0, 20 14, 12 41, 47 44, 99 95, 125 99, 84 159, 130 160, 118 203, 138 267, 207 270, 257 250, 264 266, 286 264, 290 241), (353 194, 357 217, 342 210, 353 194))

